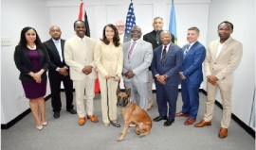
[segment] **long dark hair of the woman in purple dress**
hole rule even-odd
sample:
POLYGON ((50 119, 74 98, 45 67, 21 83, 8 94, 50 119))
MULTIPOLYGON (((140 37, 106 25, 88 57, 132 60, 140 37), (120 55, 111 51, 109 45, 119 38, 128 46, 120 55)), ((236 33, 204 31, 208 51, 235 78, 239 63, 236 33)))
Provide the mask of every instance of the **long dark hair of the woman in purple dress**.
POLYGON ((40 38, 39 38, 39 35, 37 34, 37 31, 33 28, 33 27, 30 27, 30 26, 27 26, 27 27, 24 27, 21 31, 21 39, 20 39, 20 42, 19 42, 19 45, 21 45, 22 47, 27 47, 27 40, 26 40, 26 32, 29 30, 29 29, 32 29, 35 31, 36 33, 36 40, 35 40, 35 44, 38 48, 44 48, 44 45, 43 43, 41 42, 40 38))

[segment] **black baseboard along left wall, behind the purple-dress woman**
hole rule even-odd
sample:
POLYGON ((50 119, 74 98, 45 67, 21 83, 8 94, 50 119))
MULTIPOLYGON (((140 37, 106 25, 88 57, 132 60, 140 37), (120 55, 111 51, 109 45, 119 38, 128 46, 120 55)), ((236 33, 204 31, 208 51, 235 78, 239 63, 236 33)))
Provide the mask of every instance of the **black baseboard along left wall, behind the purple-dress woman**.
MULTIPOLYGON (((45 100, 47 101, 49 98, 50 98, 50 94, 45 97, 45 100)), ((25 110, 23 113, 18 115, 16 118, 11 120, 8 124, 1 124, 1 129, 9 129, 9 127, 11 127, 12 125, 15 125, 16 123, 18 123, 25 116, 27 116, 27 114, 30 113, 30 112, 31 112, 30 108, 27 108, 27 110, 25 110)))

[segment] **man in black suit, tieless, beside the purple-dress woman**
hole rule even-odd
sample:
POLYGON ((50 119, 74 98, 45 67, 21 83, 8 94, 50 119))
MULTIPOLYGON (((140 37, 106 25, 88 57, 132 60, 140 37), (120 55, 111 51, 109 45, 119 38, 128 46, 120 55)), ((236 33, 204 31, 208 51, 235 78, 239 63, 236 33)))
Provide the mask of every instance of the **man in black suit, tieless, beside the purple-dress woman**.
POLYGON ((73 82, 70 79, 68 66, 64 62, 64 40, 61 39, 62 31, 59 26, 53 25, 49 29, 51 39, 44 42, 50 58, 49 82, 51 91, 51 106, 53 108, 53 117, 58 119, 62 109, 61 101, 61 82, 64 83, 64 92, 66 97, 66 111, 76 114, 73 108, 73 82))

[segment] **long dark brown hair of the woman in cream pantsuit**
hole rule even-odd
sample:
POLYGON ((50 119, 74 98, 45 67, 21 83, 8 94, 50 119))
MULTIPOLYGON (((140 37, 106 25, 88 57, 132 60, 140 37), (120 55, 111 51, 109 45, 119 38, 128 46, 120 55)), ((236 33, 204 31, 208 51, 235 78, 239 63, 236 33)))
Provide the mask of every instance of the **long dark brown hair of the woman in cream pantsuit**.
POLYGON ((119 42, 120 41, 120 39, 119 39, 119 31, 118 31, 118 28, 115 25, 113 25, 113 24, 108 24, 108 25, 104 26, 101 41, 104 42, 105 44, 109 44, 109 41, 107 40, 106 34, 105 34, 107 26, 111 27, 114 30, 115 35, 113 37, 113 43, 114 43, 114 45, 116 47, 118 47, 120 45, 120 42, 119 42))

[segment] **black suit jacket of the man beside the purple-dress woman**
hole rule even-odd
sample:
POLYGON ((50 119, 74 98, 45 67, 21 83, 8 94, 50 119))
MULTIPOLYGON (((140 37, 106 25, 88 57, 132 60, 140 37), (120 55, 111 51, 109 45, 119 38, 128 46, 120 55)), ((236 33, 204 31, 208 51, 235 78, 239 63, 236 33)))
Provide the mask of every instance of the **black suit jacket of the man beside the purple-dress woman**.
POLYGON ((49 55, 49 73, 51 74, 58 74, 59 73, 56 71, 56 69, 58 67, 63 68, 64 66, 68 67, 67 64, 65 64, 64 61, 64 40, 61 39, 61 47, 62 47, 62 57, 63 57, 63 61, 61 60, 59 51, 57 49, 57 47, 55 46, 54 42, 52 41, 52 39, 44 42, 44 45, 46 47, 46 50, 48 52, 49 55))

